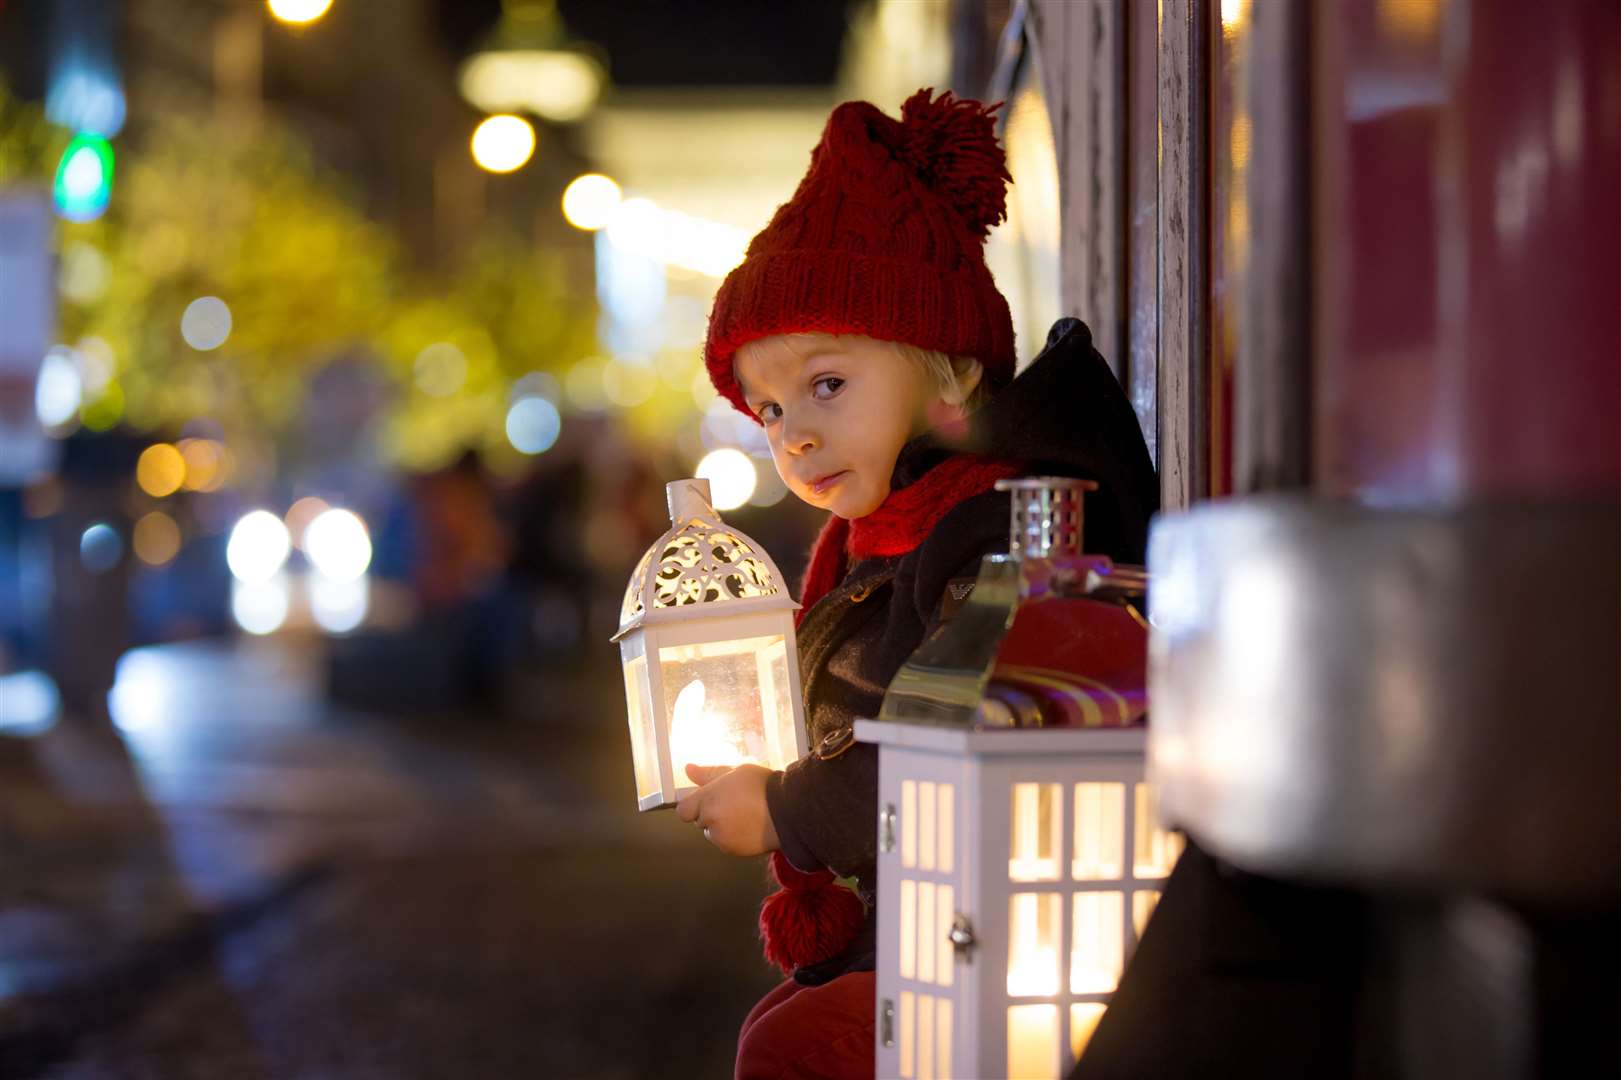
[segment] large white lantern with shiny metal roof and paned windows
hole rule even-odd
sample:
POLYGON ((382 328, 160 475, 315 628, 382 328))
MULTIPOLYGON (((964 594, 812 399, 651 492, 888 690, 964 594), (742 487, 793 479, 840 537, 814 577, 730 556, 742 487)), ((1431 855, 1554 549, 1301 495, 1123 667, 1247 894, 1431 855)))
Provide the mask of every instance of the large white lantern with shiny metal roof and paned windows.
POLYGON ((1141 574, 1080 555, 1089 485, 1008 486, 1013 553, 856 722, 879 744, 880 1077, 1067 1075, 1182 851, 1141 694, 1083 673, 1141 676, 1135 611, 1097 600, 1141 574))

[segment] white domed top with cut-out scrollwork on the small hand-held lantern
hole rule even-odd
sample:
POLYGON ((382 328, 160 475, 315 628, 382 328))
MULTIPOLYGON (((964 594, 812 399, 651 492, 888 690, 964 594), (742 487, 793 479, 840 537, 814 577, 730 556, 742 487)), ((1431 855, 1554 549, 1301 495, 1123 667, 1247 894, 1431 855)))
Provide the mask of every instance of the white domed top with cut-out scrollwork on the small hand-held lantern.
POLYGON ((669 532, 635 564, 616 637, 665 618, 720 615, 713 605, 739 611, 799 606, 765 548, 720 519, 708 480, 676 480, 665 485, 665 495, 669 532))

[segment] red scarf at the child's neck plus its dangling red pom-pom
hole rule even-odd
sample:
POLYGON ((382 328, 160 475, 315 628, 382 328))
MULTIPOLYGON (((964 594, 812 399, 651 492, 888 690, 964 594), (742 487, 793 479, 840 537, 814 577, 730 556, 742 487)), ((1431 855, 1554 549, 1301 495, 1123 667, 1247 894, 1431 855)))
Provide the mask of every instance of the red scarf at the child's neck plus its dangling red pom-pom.
MULTIPOLYGON (((883 504, 866 517, 846 521, 830 516, 810 550, 796 621, 838 585, 849 559, 906 555, 958 503, 1020 472, 1010 462, 948 457, 916 483, 890 491, 883 504)), ((760 906, 767 960, 791 975, 798 966, 832 960, 849 947, 866 916, 854 892, 835 884, 832 871, 806 874, 794 869, 781 851, 772 851, 770 872, 778 890, 760 906)))

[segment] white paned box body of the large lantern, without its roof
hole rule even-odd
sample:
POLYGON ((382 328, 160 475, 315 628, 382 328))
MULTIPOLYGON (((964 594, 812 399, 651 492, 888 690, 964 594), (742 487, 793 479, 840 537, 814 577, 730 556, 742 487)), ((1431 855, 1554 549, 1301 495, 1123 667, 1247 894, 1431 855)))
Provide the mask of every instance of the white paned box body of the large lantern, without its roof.
POLYGON ((856 738, 879 744, 877 1075, 1067 1075, 1182 851, 1144 730, 856 738))

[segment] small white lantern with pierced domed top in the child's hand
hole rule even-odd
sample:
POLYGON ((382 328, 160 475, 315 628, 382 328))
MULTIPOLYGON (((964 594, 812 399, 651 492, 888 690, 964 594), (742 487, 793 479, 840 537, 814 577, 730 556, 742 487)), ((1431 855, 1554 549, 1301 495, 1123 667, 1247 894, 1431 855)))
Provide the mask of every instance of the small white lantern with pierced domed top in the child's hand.
POLYGON ((631 576, 613 637, 644 811, 692 790, 689 764, 783 769, 806 752, 799 605, 765 550, 715 512, 707 480, 665 491, 669 532, 631 576))

